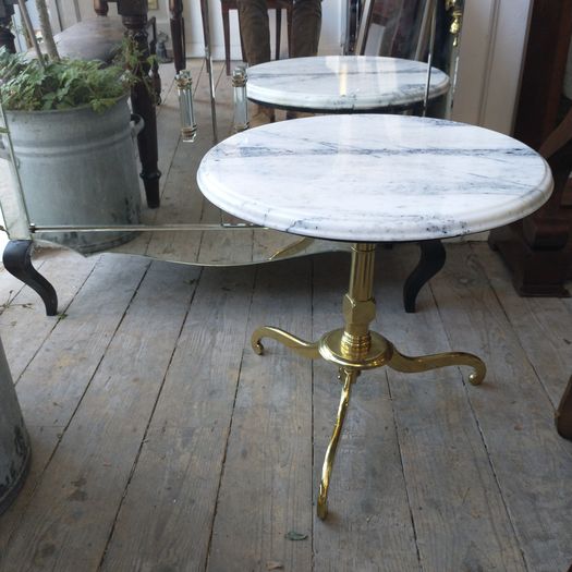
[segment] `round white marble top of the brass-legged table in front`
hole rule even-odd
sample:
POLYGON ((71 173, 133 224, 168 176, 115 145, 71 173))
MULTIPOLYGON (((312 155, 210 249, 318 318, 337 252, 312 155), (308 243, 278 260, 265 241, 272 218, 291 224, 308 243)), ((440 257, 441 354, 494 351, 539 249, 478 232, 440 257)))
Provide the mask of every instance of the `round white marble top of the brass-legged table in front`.
POLYGON ((384 242, 489 230, 535 211, 546 161, 483 127, 412 115, 324 115, 239 133, 205 155, 203 194, 304 236, 384 242))

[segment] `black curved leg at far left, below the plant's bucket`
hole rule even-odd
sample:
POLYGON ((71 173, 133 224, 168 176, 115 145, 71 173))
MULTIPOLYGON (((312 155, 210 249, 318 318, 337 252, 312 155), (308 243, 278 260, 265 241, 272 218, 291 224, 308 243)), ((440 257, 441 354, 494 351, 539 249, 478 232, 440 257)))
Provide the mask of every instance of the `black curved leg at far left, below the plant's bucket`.
POLYGON ((48 316, 56 316, 58 294, 53 287, 32 266, 32 241, 10 241, 2 258, 4 268, 39 294, 48 316))

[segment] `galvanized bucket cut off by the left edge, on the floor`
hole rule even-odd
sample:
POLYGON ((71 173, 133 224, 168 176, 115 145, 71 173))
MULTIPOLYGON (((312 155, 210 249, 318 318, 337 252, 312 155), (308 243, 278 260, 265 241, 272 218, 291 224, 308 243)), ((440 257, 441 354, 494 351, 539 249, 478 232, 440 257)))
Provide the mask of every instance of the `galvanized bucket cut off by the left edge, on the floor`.
POLYGON ((12 375, 0 340, 0 514, 24 484, 31 459, 28 434, 22 418, 12 375))

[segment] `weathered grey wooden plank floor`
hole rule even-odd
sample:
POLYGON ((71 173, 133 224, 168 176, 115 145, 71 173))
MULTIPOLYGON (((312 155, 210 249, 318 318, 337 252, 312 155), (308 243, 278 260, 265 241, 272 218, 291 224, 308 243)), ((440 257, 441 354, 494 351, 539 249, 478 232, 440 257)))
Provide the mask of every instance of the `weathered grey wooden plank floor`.
MULTIPOLYGON (((169 135, 179 126, 165 83, 165 210, 146 214, 157 220, 197 165, 169 135)), ((196 208, 200 220, 208 209, 196 208)), ((276 246, 233 236, 220 248, 215 235, 145 233, 124 248, 218 248, 232 260, 233 248, 276 246)), ((58 317, 0 269, 0 334, 33 445, 26 484, 0 516, 0 570, 568 570, 572 442, 553 412, 572 374, 572 302, 516 296, 484 243, 447 254, 407 315, 416 247, 379 250, 375 327, 404 353, 478 354, 485 384, 455 367, 362 375, 326 522, 315 498, 336 369, 271 342, 257 356, 250 336, 263 324, 308 339, 339 327, 346 254, 210 268, 40 251, 58 317)))

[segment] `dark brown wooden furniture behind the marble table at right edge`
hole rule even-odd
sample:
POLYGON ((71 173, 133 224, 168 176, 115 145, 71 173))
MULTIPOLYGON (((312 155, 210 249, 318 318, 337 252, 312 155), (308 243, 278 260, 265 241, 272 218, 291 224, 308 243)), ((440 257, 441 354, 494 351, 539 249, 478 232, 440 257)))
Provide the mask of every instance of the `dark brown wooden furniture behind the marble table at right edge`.
MULTIPOLYGON (((490 233, 512 272, 521 295, 567 296, 564 282, 572 269, 572 129, 560 129, 543 149, 571 101, 562 97, 562 83, 572 35, 572 0, 535 0, 516 111, 514 136, 548 158, 555 192, 545 207, 524 220, 490 233)), ((560 123, 567 127, 565 123, 560 123)))

